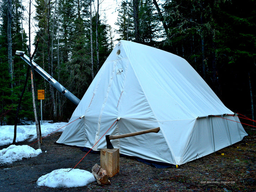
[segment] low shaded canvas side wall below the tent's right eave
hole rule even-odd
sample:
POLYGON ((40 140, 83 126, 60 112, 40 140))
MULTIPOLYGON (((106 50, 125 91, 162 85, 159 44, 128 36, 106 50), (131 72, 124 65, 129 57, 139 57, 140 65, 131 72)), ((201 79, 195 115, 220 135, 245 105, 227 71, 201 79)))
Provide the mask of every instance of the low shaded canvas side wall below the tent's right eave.
POLYGON ((181 164, 237 143, 247 135, 242 125, 234 122, 240 122, 238 117, 227 115, 220 117, 210 116, 196 119, 181 164))

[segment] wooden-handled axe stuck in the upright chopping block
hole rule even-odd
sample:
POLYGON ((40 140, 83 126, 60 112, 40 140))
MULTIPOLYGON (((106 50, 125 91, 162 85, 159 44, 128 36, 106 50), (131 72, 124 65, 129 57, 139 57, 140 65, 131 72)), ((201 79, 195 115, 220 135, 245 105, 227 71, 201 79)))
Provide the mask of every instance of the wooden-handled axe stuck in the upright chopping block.
POLYGON ((142 135, 145 133, 158 133, 159 130, 160 130, 160 128, 157 127, 157 128, 142 130, 142 131, 133 132, 133 133, 126 133, 126 134, 122 134, 122 135, 106 135, 107 149, 114 149, 112 143, 110 142, 110 140, 112 140, 112 139, 121 139, 121 138, 125 138, 125 137, 132 137, 135 135, 142 135))

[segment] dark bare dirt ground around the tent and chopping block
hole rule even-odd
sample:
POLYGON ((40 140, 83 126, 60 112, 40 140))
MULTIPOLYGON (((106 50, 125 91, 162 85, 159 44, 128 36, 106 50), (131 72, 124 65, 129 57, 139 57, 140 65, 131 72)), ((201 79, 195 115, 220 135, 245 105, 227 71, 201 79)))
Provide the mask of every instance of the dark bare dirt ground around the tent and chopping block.
MULTIPOLYGON (((39 187, 39 177, 55 169, 72 168, 85 155, 78 148, 54 144, 61 134, 54 133, 43 139, 43 153, 39 156, 0 165, 0 191, 256 191, 256 130, 245 130, 249 136, 241 142, 179 169, 156 169, 133 158, 120 157, 120 172, 110 178, 111 185, 93 182, 76 188, 39 187)), ((37 149, 37 144, 32 147, 37 149)), ((100 154, 90 153, 76 168, 91 172, 96 163, 100 164, 100 154)))

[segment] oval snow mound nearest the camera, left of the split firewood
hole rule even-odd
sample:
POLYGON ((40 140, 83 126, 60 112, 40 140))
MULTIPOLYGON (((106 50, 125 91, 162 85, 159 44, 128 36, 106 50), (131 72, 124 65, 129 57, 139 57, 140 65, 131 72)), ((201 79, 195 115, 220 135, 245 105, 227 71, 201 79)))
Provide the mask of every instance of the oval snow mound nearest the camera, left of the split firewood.
POLYGON ((37 180, 38 186, 47 187, 80 187, 96 181, 89 171, 81 169, 57 169, 41 176, 37 180), (68 172, 69 171, 69 172, 68 172))

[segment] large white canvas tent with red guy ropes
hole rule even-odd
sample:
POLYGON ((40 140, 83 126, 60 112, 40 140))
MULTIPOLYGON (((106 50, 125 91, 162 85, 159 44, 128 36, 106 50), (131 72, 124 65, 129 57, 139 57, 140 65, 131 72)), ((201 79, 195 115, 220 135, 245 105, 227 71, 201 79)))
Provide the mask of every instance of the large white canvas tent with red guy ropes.
MULTIPOLYGON (((159 133, 111 140, 121 154, 181 165, 242 140, 246 132, 188 62, 119 41, 57 143, 92 148, 103 134, 160 127, 159 133), (210 116, 215 115, 233 120, 210 116)), ((106 148, 103 137, 93 148, 106 148)))

